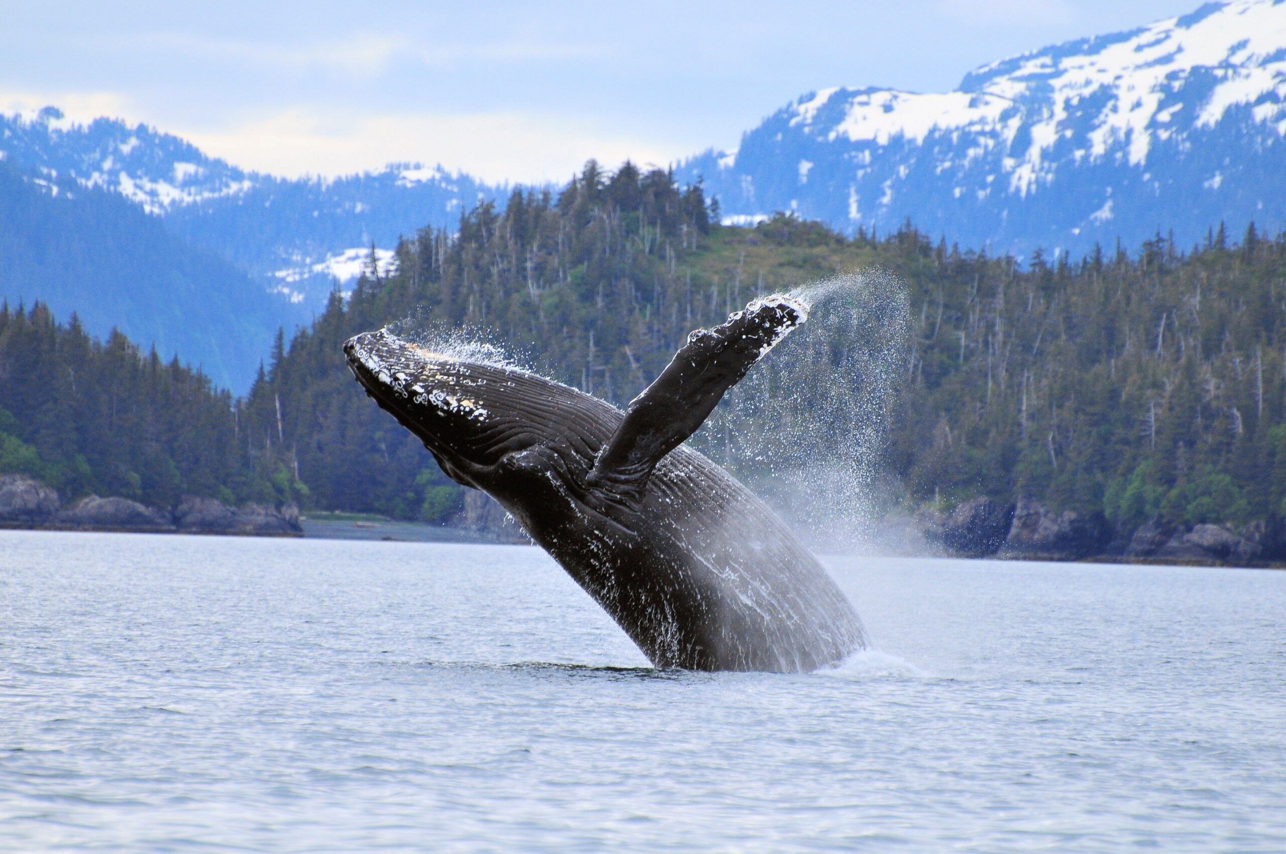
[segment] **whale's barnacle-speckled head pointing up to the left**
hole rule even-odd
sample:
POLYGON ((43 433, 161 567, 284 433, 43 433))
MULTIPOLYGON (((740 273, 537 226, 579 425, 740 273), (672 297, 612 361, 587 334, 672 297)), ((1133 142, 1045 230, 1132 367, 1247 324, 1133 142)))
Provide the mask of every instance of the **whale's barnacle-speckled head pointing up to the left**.
POLYGON ((468 486, 493 491, 502 462, 538 446, 580 449, 566 462, 588 468, 615 427, 617 410, 574 388, 440 352, 387 329, 355 336, 343 351, 367 394, 468 486))

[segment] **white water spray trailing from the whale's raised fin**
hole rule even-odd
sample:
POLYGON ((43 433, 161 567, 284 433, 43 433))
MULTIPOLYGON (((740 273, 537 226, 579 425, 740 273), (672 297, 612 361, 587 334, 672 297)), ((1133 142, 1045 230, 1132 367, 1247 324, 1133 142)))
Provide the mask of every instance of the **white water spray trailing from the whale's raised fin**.
POLYGON ((882 540, 896 490, 882 449, 905 367, 909 301, 871 269, 796 288, 809 322, 729 392, 705 450, 826 552, 882 540))

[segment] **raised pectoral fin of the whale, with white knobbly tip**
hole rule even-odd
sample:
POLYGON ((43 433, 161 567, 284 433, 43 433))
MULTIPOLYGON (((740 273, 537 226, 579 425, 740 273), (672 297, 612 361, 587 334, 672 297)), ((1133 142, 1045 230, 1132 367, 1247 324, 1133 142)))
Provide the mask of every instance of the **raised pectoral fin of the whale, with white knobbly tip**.
POLYGON ((689 334, 661 376, 630 401, 625 421, 594 462, 589 486, 640 499, 661 458, 694 433, 724 394, 806 318, 802 302, 777 295, 689 334))

